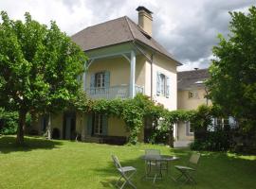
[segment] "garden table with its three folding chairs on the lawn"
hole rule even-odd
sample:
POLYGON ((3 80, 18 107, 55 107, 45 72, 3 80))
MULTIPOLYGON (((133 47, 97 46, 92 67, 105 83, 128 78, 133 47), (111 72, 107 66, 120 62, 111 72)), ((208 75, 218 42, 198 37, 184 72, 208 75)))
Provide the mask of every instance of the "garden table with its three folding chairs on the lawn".
MULTIPOLYGON (((145 162, 145 175, 141 179, 153 180, 153 183, 155 183, 155 180, 161 180, 163 178, 164 171, 166 171, 166 175, 169 175, 169 163, 179 160, 179 157, 176 156, 161 155, 160 150, 158 149, 146 149, 145 154, 140 158, 145 162)), ((196 183, 191 173, 196 171, 196 165, 199 161, 199 158, 199 153, 193 153, 189 163, 186 166, 174 165, 174 167, 180 172, 180 175, 176 179, 170 176, 171 179, 177 181, 185 178, 184 183, 189 181, 196 183)), ((133 166, 121 166, 118 157, 115 155, 112 155, 112 160, 120 174, 119 180, 116 182, 116 186, 119 187, 119 189, 122 189, 126 184, 129 184, 131 187, 136 189, 137 187, 131 181, 131 178, 137 172, 137 168, 133 166), (124 181, 119 186, 121 180, 124 181)))

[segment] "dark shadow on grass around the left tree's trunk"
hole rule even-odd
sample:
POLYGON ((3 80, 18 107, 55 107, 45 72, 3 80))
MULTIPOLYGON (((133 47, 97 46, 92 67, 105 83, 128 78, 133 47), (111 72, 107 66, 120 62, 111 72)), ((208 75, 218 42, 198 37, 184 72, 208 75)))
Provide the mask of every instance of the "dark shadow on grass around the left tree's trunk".
POLYGON ((31 151, 34 149, 52 149, 61 146, 60 141, 50 141, 41 137, 25 137, 25 144, 18 146, 16 144, 15 136, 1 136, 0 137, 0 152, 11 153, 15 151, 31 151))

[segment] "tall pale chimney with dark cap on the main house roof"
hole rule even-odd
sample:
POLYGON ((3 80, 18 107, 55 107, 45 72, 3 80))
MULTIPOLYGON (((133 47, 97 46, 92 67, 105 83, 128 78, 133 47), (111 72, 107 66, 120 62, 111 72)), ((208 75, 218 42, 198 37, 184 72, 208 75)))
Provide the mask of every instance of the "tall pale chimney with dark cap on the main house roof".
POLYGON ((136 9, 138 11, 138 26, 142 28, 149 36, 152 36, 152 21, 153 12, 149 9, 139 6, 136 9))

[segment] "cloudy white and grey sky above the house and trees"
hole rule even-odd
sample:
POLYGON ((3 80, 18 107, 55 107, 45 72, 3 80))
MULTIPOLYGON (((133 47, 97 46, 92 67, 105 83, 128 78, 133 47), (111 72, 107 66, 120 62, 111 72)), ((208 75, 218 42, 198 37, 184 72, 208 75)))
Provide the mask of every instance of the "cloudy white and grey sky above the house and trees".
POLYGON ((121 16, 137 23, 137 7, 153 11, 153 37, 183 65, 179 71, 207 68, 217 35, 229 33, 229 11, 247 12, 255 0, 0 0, 14 20, 28 11, 34 20, 57 25, 68 35, 121 16))

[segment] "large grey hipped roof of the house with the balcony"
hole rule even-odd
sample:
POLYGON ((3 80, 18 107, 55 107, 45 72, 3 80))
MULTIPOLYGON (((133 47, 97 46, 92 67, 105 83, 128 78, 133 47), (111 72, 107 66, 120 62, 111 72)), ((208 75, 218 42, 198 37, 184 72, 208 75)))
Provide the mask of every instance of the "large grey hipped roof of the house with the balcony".
POLYGON ((158 53, 165 55, 169 59, 175 60, 173 55, 127 16, 99 25, 86 27, 82 31, 74 34, 71 38, 75 43, 82 47, 83 51, 89 51, 118 43, 136 42, 146 44, 158 53))

